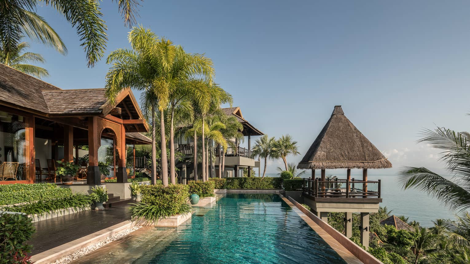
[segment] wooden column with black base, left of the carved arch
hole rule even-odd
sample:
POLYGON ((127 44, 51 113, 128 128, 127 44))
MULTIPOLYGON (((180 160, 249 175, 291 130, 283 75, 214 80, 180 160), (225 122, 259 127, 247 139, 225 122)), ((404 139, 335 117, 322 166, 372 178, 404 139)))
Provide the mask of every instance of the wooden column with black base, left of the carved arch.
POLYGON ((88 171, 86 172, 86 184, 101 184, 101 173, 98 167, 98 142, 101 135, 98 135, 98 117, 88 117, 88 171))

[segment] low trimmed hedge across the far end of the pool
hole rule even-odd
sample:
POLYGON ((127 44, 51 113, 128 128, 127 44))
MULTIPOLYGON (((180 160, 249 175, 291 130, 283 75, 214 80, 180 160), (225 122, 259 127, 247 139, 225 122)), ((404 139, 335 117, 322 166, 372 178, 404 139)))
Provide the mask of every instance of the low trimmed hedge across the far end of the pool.
POLYGON ((226 189, 281 189, 280 177, 238 177, 226 178, 226 189))

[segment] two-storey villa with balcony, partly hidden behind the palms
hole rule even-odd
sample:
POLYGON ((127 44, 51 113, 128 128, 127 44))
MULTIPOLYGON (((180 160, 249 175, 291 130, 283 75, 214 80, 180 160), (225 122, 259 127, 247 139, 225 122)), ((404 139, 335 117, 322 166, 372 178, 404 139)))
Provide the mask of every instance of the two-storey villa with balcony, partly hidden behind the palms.
MULTIPOLYGON (((227 116, 235 116, 237 121, 243 125, 241 132, 245 137, 245 141, 248 143, 248 147, 245 148, 240 147, 239 140, 232 140, 235 147, 227 147, 225 153, 225 172, 222 178, 241 177, 243 176, 243 169, 245 168, 248 169, 248 176, 254 176, 251 175, 251 169, 255 167, 259 168, 260 162, 251 157, 251 136, 263 136, 264 134, 244 119, 240 107, 222 108, 222 111, 227 116)), ((197 145, 196 147, 200 148, 201 146, 197 145)), ((214 162, 210 164, 209 177, 218 177, 219 163, 221 163, 221 153, 223 150, 215 144, 212 144, 211 148, 213 151, 209 153, 209 160, 213 160, 214 162)), ((181 135, 175 139, 175 149, 183 154, 181 157, 182 161, 178 162, 176 167, 179 169, 178 177, 180 178, 180 182, 186 183, 188 180, 194 179, 194 140, 181 135)), ((198 178, 200 178, 202 175, 201 163, 199 163, 197 167, 197 175, 198 178)))

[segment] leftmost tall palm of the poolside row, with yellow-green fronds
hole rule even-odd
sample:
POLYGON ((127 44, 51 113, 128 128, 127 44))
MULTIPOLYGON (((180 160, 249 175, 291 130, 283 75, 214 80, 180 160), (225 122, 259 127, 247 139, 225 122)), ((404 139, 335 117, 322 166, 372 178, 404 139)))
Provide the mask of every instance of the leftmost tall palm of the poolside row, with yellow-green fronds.
MULTIPOLYGON (((168 185, 168 165, 166 158, 166 140, 164 129, 164 107, 168 101, 168 87, 162 85, 164 68, 171 58, 171 45, 164 39, 159 39, 152 31, 143 27, 134 27, 129 33, 132 50, 117 49, 110 53, 107 63, 112 67, 106 74, 106 95, 111 102, 115 102, 117 95, 128 87, 143 91, 142 105, 144 114, 152 124, 152 183, 156 182, 156 113, 157 103, 160 113, 160 140, 162 160, 162 181, 168 185)), ((172 61, 172 60, 170 60, 172 61)))

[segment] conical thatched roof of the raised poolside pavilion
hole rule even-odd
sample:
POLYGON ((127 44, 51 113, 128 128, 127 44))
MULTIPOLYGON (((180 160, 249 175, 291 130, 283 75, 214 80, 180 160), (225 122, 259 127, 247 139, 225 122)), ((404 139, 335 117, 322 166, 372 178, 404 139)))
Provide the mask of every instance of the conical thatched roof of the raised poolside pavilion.
POLYGON ((392 163, 346 118, 341 106, 300 161, 298 169, 391 168, 392 163))

